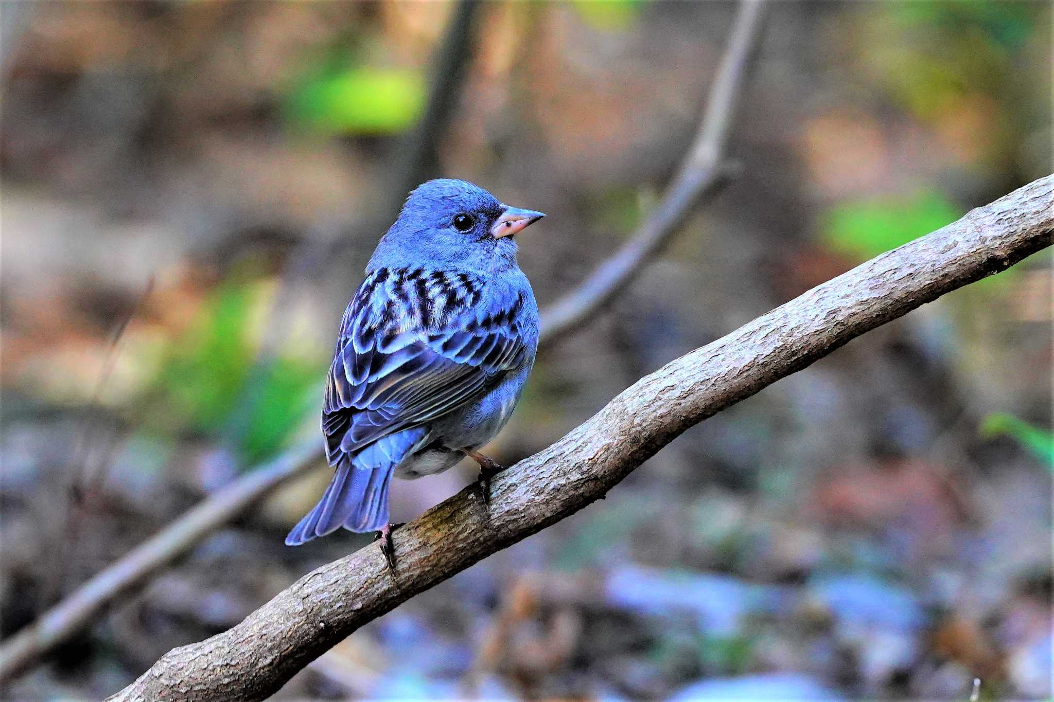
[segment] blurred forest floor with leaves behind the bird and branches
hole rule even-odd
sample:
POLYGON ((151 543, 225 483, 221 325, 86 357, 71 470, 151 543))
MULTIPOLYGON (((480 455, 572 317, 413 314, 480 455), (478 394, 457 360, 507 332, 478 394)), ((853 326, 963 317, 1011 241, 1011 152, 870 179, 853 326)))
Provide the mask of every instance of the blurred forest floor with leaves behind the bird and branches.
MULTIPOLYGON (((340 314, 417 181, 549 215, 521 238, 543 307, 657 204, 735 5, 472 9, 0 6, 4 636, 317 433, 340 314), (471 21, 444 49, 455 17, 471 21), (458 55, 462 80, 432 91, 458 55)), ((528 456, 666 361, 1050 174, 1051 23, 1046 2, 774 3, 733 125, 739 177, 540 356, 488 453, 528 456)), ((1051 265, 1034 256, 707 420, 276 699, 964 700, 975 677, 981 699, 1050 697, 1051 265)), ((112 694, 368 543, 282 544, 329 475, 5 694, 112 694)), ((474 477, 398 482, 393 519, 474 477)))

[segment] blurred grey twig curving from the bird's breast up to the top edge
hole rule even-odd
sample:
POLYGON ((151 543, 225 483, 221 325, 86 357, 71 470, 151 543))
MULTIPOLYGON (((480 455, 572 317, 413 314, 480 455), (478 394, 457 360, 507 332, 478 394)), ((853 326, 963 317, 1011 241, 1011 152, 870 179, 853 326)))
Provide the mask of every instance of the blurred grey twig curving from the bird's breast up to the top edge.
POLYGON ((545 310, 542 334, 547 341, 557 341, 591 319, 672 239, 692 207, 703 198, 716 195, 727 181, 730 166, 724 162, 724 154, 743 85, 760 43, 763 20, 761 0, 744 0, 740 4, 696 140, 667 186, 662 202, 618 252, 581 285, 545 310))

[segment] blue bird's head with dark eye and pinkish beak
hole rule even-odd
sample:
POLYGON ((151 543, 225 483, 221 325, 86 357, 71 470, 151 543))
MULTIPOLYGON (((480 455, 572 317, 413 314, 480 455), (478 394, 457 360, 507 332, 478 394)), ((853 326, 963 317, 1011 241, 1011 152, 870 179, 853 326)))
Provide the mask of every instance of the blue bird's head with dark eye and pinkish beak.
MULTIPOLYGON (((513 236, 543 217, 500 202, 465 180, 430 180, 410 193, 373 259, 409 256, 418 262, 484 266, 514 262, 513 236)), ((382 263, 392 265, 389 260, 382 263)))

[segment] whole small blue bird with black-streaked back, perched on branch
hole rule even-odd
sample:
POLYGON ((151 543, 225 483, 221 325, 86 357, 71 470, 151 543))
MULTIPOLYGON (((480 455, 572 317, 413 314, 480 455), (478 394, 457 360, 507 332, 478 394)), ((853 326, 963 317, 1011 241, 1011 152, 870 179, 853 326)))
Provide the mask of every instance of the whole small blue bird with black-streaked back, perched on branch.
POLYGON ((410 194, 340 321, 323 407, 335 474, 287 544, 379 530, 391 563, 392 475, 440 473, 464 456, 480 464, 486 499, 501 466, 476 448, 508 421, 538 347, 513 235, 544 216, 464 180, 410 194))

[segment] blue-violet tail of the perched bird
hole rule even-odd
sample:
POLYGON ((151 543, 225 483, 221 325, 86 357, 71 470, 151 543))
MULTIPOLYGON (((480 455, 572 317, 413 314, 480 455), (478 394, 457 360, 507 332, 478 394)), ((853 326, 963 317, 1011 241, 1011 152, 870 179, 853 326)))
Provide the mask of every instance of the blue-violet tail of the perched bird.
POLYGON ((341 526, 359 533, 383 528, 388 524, 392 473, 424 436, 421 427, 404 429, 341 456, 323 499, 289 533, 286 545, 299 546, 341 526))

